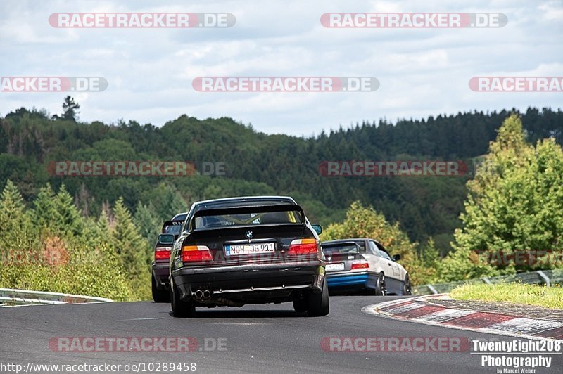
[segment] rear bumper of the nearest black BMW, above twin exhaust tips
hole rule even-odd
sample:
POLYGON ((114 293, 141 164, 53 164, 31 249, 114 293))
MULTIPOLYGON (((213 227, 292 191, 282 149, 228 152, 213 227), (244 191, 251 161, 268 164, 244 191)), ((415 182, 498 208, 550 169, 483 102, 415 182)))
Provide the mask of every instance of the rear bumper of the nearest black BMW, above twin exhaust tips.
POLYGON ((210 290, 214 296, 239 300, 290 297, 292 292, 322 292, 324 262, 298 264, 241 264, 236 266, 183 267, 172 271, 182 299, 197 290, 210 290))

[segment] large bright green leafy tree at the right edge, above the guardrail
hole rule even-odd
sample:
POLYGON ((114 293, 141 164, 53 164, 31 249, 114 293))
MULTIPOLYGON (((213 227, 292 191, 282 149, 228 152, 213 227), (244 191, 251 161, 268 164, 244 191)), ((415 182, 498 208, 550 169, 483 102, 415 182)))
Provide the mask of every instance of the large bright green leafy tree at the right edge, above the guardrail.
POLYGON ((555 140, 529 145, 520 118, 511 115, 467 186, 464 226, 443 262, 444 280, 555 265, 534 258, 563 247, 563 150, 555 140))

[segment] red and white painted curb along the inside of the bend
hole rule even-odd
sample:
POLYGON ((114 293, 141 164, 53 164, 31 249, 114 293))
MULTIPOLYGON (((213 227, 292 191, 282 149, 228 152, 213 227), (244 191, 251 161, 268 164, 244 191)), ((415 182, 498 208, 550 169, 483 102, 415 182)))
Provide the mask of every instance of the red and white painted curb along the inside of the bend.
POLYGON ((450 309, 424 301, 428 297, 441 296, 444 295, 410 297, 408 299, 382 302, 380 304, 368 305, 362 308, 362 311, 368 314, 399 318, 426 325, 438 325, 461 330, 479 331, 481 333, 529 337, 532 339, 548 338, 563 340, 563 322, 515 317, 484 311, 450 309))

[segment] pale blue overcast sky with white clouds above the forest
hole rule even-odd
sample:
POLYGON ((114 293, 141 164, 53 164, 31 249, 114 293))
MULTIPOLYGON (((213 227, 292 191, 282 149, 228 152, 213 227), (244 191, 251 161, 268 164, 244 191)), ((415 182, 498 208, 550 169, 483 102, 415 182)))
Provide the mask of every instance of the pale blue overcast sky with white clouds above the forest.
MULTIPOLYGON (((479 75, 563 76, 563 0, 0 2, 0 75, 104 77, 77 93, 80 120, 162 126, 187 114, 232 117, 258 131, 310 136, 386 117, 562 108, 563 93, 479 93, 479 75), (232 13, 222 29, 61 29, 51 13, 232 13), (329 29, 327 12, 499 12, 502 28, 329 29), (373 92, 209 93, 204 76, 377 77, 373 92)), ((61 112, 65 93, 0 92, 0 115, 61 112)))

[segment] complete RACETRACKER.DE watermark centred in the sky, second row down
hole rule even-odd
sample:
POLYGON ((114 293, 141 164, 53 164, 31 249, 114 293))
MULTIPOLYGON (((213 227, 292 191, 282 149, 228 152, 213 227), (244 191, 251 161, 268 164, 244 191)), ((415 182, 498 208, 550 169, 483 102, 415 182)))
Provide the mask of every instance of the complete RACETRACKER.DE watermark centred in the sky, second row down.
POLYGON ((375 77, 196 77, 191 86, 200 92, 371 92, 375 77))

